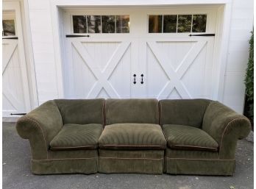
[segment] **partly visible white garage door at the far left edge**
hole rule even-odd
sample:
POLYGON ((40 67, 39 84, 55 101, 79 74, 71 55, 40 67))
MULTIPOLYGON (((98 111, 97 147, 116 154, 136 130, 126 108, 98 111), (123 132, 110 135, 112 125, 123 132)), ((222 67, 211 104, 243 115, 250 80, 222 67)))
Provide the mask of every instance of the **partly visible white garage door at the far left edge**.
POLYGON ((10 117, 29 111, 29 88, 19 7, 16 12, 7 9, 13 10, 15 3, 3 3, 3 7, 2 111, 3 117, 10 117))

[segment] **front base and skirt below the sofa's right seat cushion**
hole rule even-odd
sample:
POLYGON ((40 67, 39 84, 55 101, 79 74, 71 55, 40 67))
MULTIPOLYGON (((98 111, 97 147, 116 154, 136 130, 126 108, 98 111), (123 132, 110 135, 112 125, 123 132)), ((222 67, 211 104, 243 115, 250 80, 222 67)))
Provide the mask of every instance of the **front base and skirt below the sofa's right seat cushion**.
POLYGON ((235 160, 220 160, 217 152, 166 149, 167 174, 223 175, 235 172, 235 160))

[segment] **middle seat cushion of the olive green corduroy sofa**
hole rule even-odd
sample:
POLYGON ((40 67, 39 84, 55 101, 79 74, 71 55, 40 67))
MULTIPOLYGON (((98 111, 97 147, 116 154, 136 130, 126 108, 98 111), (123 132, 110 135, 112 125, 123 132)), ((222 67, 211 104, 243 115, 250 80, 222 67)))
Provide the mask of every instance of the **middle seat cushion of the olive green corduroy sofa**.
POLYGON ((111 124, 99 138, 100 149, 166 149, 166 138, 157 124, 111 124))

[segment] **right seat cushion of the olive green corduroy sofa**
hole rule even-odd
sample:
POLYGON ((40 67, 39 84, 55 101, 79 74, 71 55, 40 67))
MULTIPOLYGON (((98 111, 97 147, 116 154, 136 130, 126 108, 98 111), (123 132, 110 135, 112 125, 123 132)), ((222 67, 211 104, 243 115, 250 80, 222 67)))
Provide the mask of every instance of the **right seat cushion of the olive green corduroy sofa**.
POLYGON ((218 151, 216 140, 193 126, 166 124, 163 133, 171 149, 218 151))

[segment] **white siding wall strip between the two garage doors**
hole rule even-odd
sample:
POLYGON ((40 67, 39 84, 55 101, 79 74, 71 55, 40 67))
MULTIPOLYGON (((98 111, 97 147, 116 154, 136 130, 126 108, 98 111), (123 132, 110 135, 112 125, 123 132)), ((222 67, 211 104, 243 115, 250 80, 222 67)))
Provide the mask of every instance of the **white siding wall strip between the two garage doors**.
POLYGON ((28 0, 29 20, 38 85, 38 101, 42 104, 57 99, 57 74, 49 0, 28 0))

